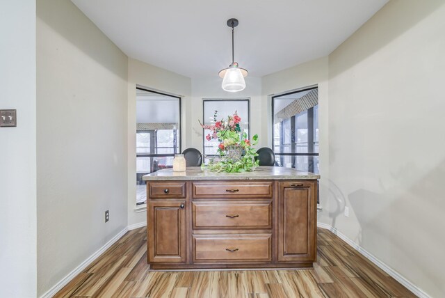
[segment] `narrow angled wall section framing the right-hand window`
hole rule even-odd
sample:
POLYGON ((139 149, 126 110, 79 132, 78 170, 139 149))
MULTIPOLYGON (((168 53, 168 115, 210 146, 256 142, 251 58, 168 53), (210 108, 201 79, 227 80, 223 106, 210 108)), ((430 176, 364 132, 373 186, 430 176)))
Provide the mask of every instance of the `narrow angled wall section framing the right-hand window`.
MULTIPOLYGON (((319 58, 314 61, 302 63, 280 72, 275 72, 262 78, 262 111, 264 118, 267 117, 268 125, 263 130, 263 135, 267 138, 268 147, 272 147, 272 99, 271 95, 285 93, 307 86, 318 85, 318 129, 320 132, 319 148, 319 167, 320 167, 320 203, 323 209, 329 201, 329 130, 328 127, 328 69, 327 57, 319 58)), ((265 121, 264 121, 265 122, 265 121)), ((318 221, 323 221, 326 212, 318 213, 318 221)))

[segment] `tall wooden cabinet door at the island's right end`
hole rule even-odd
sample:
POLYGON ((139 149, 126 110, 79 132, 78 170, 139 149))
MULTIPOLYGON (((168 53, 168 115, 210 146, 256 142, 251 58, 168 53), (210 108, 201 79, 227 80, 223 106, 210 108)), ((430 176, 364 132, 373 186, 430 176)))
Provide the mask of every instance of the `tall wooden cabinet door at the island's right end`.
POLYGON ((316 182, 280 182, 278 261, 316 260, 316 182))

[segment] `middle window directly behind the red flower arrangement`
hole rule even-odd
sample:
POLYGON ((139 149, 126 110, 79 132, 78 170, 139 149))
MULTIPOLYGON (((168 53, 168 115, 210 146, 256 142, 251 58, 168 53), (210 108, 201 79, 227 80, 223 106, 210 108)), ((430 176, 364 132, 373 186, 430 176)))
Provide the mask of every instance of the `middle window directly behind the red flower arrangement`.
MULTIPOLYGON (((249 136, 249 123, 250 123, 250 100, 240 99, 240 100, 203 100, 203 124, 211 125, 214 123, 213 115, 215 111, 218 111, 217 120, 227 119, 227 116, 231 116, 238 113, 241 117, 241 131, 245 132, 249 136)), ((203 133, 203 144, 204 148, 202 152, 205 155, 216 155, 218 150, 218 140, 207 141, 205 136, 209 134, 209 130, 204 130, 203 133)))

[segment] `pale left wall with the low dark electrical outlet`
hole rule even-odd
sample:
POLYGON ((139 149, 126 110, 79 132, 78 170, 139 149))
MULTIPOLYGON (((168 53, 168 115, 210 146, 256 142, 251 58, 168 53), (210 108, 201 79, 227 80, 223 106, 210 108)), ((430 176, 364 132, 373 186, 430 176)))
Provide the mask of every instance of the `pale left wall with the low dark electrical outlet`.
POLYGON ((69 0, 37 17, 42 295, 127 227, 127 56, 69 0))

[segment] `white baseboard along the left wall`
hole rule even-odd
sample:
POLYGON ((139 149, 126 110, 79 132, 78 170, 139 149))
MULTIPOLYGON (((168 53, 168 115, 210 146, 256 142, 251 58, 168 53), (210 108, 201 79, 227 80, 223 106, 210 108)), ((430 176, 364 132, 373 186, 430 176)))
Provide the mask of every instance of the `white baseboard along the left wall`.
POLYGON ((49 289, 46 293, 44 293, 40 298, 50 298, 56 295, 58 291, 60 291, 67 283, 69 283, 74 277, 81 273, 83 269, 88 267, 94 260, 96 260, 102 253, 104 253, 111 245, 113 245, 116 241, 120 240, 120 238, 127 233, 129 228, 124 228, 117 235, 115 235, 110 241, 106 242, 104 246, 98 249, 95 253, 89 256, 86 260, 84 260, 81 265, 77 266, 72 272, 70 272, 67 276, 65 276, 62 280, 60 280, 56 285, 54 285, 51 289, 49 289))

